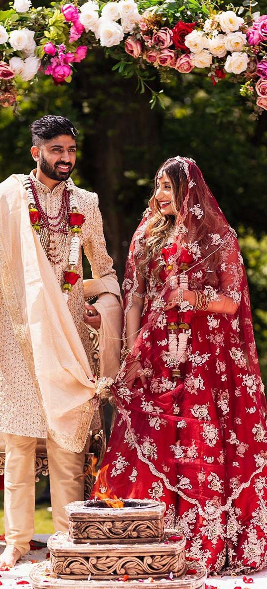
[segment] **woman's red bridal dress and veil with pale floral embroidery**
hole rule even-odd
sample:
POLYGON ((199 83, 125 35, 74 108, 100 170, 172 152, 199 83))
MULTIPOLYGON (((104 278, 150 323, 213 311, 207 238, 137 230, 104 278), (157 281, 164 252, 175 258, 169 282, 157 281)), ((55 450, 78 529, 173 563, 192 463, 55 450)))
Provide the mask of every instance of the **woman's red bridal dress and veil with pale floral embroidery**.
MULTIPOLYGON (((208 570, 248 573, 267 564, 266 403, 248 286, 234 231, 195 163, 183 162, 188 193, 174 244, 161 252, 163 284, 155 283, 150 268, 144 289, 138 274, 150 211, 128 254, 125 316, 133 294, 144 294, 145 305, 141 332, 112 386, 118 417, 102 468, 109 465, 111 494, 164 501, 166 526, 185 535, 187 551, 208 570), (220 218, 220 232, 209 236, 219 256, 216 287, 209 284, 206 246, 191 237, 201 220, 199 186, 220 218), (194 206, 188 210, 189 196, 194 206), (212 300, 232 298, 239 303, 234 315, 164 310, 184 260, 189 288, 209 293, 212 300), (169 351, 170 325, 175 324, 178 333, 189 326, 182 363, 169 351), (131 389, 126 386, 127 365, 134 358, 144 368, 147 388, 140 379, 131 389)), ((99 477, 93 495, 105 490, 99 477)))

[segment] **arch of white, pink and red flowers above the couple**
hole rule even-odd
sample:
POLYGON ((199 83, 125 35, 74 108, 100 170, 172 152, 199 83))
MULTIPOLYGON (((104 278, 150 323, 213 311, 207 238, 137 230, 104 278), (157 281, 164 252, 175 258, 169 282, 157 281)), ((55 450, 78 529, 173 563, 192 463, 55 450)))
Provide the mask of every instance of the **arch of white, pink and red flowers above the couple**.
MULTIPOLYGON (((75 64, 102 47, 124 77, 144 90, 154 68, 187 75, 197 68, 213 85, 226 76, 260 114, 267 110, 267 15, 255 0, 223 8, 206 0, 62 0, 33 8, 15 0, 0 11, 0 105, 17 104, 19 80, 71 82, 75 64)), ((151 107, 160 92, 152 91, 151 107)))

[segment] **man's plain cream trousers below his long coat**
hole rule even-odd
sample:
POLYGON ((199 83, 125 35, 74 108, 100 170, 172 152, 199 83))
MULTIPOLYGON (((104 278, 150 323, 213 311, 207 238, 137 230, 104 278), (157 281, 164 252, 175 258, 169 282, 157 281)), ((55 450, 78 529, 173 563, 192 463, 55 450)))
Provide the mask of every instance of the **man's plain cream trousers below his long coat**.
MULTIPOLYGON (((5 538, 6 544, 29 550, 34 534, 35 448, 37 438, 4 434, 5 438, 5 538)), ((64 450, 49 436, 47 456, 52 516, 55 531, 68 530, 64 505, 84 499, 84 451, 64 450)))

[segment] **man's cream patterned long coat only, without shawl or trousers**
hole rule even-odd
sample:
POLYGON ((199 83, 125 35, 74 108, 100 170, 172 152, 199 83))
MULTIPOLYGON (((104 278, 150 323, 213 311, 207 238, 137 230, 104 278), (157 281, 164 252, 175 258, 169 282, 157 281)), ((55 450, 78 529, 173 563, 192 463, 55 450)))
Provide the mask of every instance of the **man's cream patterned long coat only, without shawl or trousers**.
MULTIPOLYGON (((33 172, 31 172, 31 178, 37 188, 42 209, 45 210, 48 216, 55 217, 60 210, 65 183, 58 184, 51 192, 47 186, 35 178, 33 172)), ((77 197, 78 210, 85 216, 80 239, 90 262, 93 277, 98 279, 107 276, 116 277, 113 262, 106 250, 97 194, 75 187, 75 196, 77 197)), ((58 239, 60 237, 57 236, 58 239)), ((58 244, 57 240, 55 246, 58 244)), ((62 284, 63 272, 68 267, 70 240, 71 236, 68 235, 61 262, 54 265, 51 263, 60 285, 62 284)), ((88 329, 83 323, 84 291, 81 250, 77 270, 81 279, 72 287, 67 304, 85 352, 90 360, 88 329)), ((105 290, 103 286, 103 292, 105 290)), ((0 321, 0 431, 8 434, 45 438, 47 437, 47 424, 42 416, 37 391, 19 348, 15 332, 12 329, 9 312, 1 291, 0 321)), ((100 425, 100 418, 96 413, 91 427, 95 429, 98 425, 100 425)))

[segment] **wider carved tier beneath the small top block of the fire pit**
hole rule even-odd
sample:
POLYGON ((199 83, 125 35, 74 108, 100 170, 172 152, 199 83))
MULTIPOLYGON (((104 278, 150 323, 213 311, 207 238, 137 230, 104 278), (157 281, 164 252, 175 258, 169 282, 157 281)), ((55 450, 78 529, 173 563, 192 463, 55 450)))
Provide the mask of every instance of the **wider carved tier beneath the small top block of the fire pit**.
POLYGON ((164 541, 157 544, 82 544, 68 539, 67 534, 57 532, 47 543, 51 552, 51 574, 62 579, 87 580, 116 579, 129 575, 131 579, 157 578, 182 575, 184 562, 184 537, 168 542, 175 531, 165 533, 164 541))

